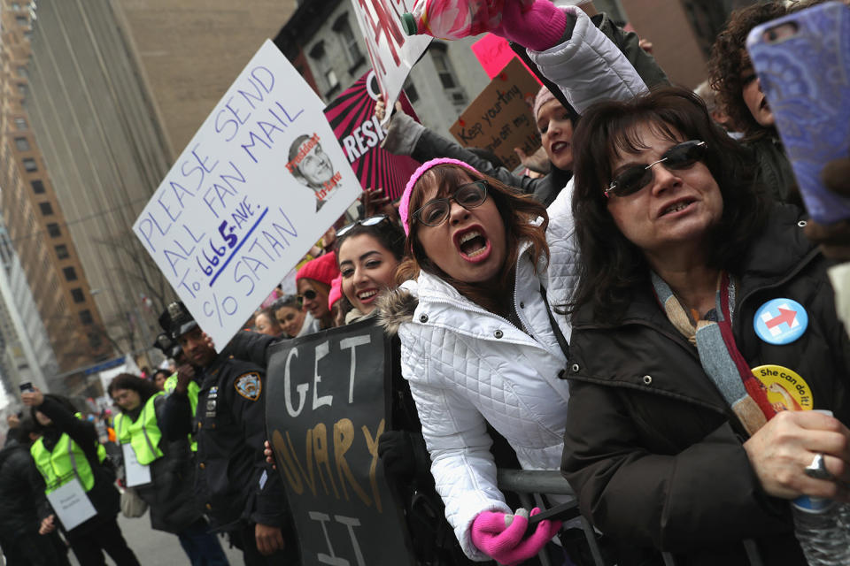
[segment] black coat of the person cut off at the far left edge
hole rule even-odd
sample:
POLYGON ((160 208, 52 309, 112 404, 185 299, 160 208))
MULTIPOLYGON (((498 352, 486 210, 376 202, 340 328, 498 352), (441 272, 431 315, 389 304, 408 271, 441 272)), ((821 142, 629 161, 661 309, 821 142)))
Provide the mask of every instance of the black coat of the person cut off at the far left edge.
POLYGON ((44 489, 29 447, 17 440, 0 450, 0 541, 38 532, 44 489))

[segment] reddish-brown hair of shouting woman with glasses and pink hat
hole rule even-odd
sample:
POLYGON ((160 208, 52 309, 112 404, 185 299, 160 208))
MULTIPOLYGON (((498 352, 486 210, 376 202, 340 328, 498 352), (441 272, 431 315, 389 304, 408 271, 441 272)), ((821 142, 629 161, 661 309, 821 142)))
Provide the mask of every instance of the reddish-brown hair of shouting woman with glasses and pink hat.
MULTIPOLYGON (((499 216, 505 224, 505 236, 507 240, 507 255, 505 267, 501 271, 501 279, 498 285, 473 284, 453 279, 448 273, 437 267, 416 237, 419 224, 413 221, 411 215, 410 233, 405 243, 406 258, 398 266, 397 280, 399 283, 407 279, 415 279, 419 272, 424 271, 436 275, 446 283, 456 288, 458 292, 466 296, 470 301, 481 305, 483 308, 497 314, 505 314, 509 309, 509 297, 514 288, 514 265, 520 253, 520 242, 531 243, 532 257, 545 258, 549 262, 549 246, 546 243, 546 226, 549 226, 549 215, 541 203, 533 200, 530 195, 523 195, 517 189, 508 187, 505 183, 493 179, 480 172, 472 172, 460 165, 439 164, 423 173, 413 186, 410 196, 408 210, 418 210, 424 200, 425 188, 437 185, 437 197, 451 195, 454 189, 467 182, 464 176, 472 180, 487 181, 487 198, 496 203, 499 216), (543 218, 543 222, 531 224, 536 218, 543 218)), ((537 264, 535 264, 537 269, 537 264)))

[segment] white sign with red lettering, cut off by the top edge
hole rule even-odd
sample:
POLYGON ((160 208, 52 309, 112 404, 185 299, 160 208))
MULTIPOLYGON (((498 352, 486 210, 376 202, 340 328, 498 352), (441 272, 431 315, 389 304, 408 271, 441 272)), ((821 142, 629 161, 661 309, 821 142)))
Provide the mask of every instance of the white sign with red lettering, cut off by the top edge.
POLYGON ((401 27, 401 15, 413 11, 413 0, 352 0, 352 6, 383 99, 391 106, 431 38, 407 35, 401 27))

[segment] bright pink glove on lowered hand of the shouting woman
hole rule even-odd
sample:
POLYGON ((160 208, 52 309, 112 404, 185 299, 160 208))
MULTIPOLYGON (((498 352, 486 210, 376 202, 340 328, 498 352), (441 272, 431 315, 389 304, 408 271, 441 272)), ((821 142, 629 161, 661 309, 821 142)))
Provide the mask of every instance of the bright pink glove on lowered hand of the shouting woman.
MULTIPOLYGON (((540 509, 531 510, 537 515, 540 509)), ((522 539, 529 524, 529 512, 517 509, 514 515, 483 511, 472 522, 472 542, 485 555, 500 564, 514 566, 537 555, 560 530, 560 521, 541 521, 528 539, 522 539)))

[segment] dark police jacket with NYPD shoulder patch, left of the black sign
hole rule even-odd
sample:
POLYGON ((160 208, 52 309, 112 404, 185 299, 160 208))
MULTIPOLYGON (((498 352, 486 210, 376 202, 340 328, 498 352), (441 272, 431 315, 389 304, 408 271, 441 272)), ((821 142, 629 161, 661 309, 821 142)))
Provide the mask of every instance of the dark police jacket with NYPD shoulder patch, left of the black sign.
MULTIPOLYGON (((284 526, 286 496, 263 454, 264 371, 252 363, 219 356, 198 374, 200 391, 192 423, 197 440, 195 501, 219 531, 246 523, 284 526)), ((169 395, 166 413, 169 439, 189 432, 187 395, 169 395)))

